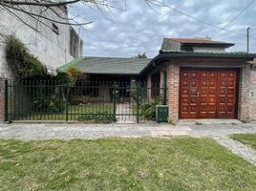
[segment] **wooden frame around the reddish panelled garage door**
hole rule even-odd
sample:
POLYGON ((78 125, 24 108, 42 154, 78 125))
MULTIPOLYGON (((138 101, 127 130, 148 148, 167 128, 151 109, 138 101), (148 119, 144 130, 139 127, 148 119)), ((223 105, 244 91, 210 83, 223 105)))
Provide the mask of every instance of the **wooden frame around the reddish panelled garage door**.
MULTIPOLYGON (((181 70, 191 70, 191 71, 203 71, 203 70, 208 70, 208 71, 230 71, 234 70, 236 71, 236 104, 235 104, 235 118, 238 118, 238 110, 239 110, 239 96, 240 96, 240 86, 241 86, 241 70, 243 68, 212 68, 212 67, 180 67, 180 76, 179 76, 179 119, 181 119, 181 70)), ((219 83, 219 81, 218 81, 219 83)), ((218 84, 219 85, 219 84, 218 84)), ((198 100, 198 102, 200 99, 198 100)), ((199 104, 200 105, 200 104, 199 104)), ((197 114, 199 116, 199 114, 197 114)), ((197 117, 199 118, 199 117, 197 117)), ((217 117, 216 117, 217 118, 217 117)), ((185 119, 185 118, 183 118, 185 119)))

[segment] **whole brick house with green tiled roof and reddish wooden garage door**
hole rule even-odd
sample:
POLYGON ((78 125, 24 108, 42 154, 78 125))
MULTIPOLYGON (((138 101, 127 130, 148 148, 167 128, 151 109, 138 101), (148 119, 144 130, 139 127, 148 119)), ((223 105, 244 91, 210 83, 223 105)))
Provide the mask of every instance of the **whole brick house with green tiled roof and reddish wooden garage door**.
POLYGON ((163 96, 166 86, 173 120, 256 119, 256 72, 249 63, 256 54, 225 52, 231 46, 208 38, 164 38, 153 59, 85 57, 72 66, 96 80, 145 82, 148 100, 163 96))

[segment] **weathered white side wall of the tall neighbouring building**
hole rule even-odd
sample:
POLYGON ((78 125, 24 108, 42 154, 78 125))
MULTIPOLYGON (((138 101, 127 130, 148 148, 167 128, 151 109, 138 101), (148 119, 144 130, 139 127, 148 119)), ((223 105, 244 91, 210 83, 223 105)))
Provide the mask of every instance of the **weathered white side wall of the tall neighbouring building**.
MULTIPOLYGON (((29 11, 40 12, 42 8, 26 7, 29 11)), ((67 17, 64 11, 56 8, 55 11, 61 13, 62 17, 67 17)), ((37 56, 39 60, 45 64, 50 70, 55 70, 58 66, 61 66, 71 60, 74 57, 70 54, 70 26, 62 25, 54 22, 58 27, 59 34, 53 32, 53 21, 47 21, 40 19, 37 22, 32 19, 29 15, 19 11, 13 11, 15 14, 25 22, 29 23, 33 28, 37 28, 39 32, 35 32, 18 18, 11 15, 10 12, 0 10, 0 33, 5 35, 14 34, 19 38, 30 50, 32 54, 37 56)), ((42 15, 47 15, 53 18, 53 20, 59 20, 67 22, 65 19, 59 18, 53 11, 45 11, 42 15)), ((4 38, 0 36, 0 77, 10 77, 10 69, 8 69, 6 56, 5 56, 5 42, 4 38)), ((80 45, 78 45, 80 47, 80 45)), ((79 48, 80 49, 80 48, 79 48)), ((79 50, 80 51, 80 50, 79 50)), ((80 51, 81 53, 82 51, 80 51)), ((80 56, 80 55, 79 55, 80 56)))

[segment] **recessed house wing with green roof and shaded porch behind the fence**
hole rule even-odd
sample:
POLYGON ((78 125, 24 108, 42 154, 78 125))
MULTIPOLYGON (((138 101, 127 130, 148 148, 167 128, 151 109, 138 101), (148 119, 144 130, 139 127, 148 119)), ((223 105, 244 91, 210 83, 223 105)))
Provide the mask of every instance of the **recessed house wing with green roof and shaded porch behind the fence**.
POLYGON ((133 82, 140 81, 139 74, 150 61, 149 58, 85 56, 59 67, 58 70, 65 72, 69 68, 76 68, 90 76, 90 86, 94 88, 84 91, 83 96, 96 97, 100 101, 110 101, 112 95, 108 86, 116 82, 119 87, 119 100, 129 101, 129 87, 133 85, 133 82))

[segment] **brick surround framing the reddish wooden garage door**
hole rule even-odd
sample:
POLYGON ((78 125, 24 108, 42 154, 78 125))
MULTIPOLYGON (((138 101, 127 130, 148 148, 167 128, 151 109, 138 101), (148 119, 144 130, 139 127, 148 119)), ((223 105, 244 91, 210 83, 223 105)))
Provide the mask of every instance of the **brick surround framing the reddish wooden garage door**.
MULTIPOLYGON (((180 92, 180 67, 189 67, 198 64, 198 67, 212 67, 212 64, 216 63, 216 68, 226 66, 226 68, 241 68, 239 84, 239 96, 238 96, 238 119, 250 120, 250 113, 256 113, 256 110, 252 111, 250 96, 249 96, 249 84, 250 84, 250 65, 243 63, 241 60, 233 59, 189 59, 189 60, 173 60, 170 61, 167 66, 167 88, 168 88, 168 106, 169 106, 169 118, 173 120, 179 119, 179 92, 180 92), (235 61, 235 62, 234 62, 235 61), (186 64, 184 64, 186 63, 186 64), (201 64, 202 63, 202 64, 201 64), (207 64, 208 63, 208 64, 207 64), (193 65, 191 65, 193 64, 193 65), (219 65, 218 65, 219 64, 219 65), (225 64, 225 65, 224 65, 225 64)), ((256 73, 255 73, 256 75, 256 73)), ((255 76, 256 78, 256 76, 255 76)), ((256 84, 255 84, 256 88, 256 84)), ((255 95, 256 96, 256 95, 255 95)), ((256 100, 254 108, 256 108, 256 100)), ((255 115, 256 119, 256 115, 255 115)))

